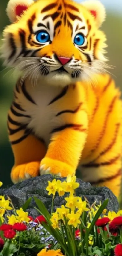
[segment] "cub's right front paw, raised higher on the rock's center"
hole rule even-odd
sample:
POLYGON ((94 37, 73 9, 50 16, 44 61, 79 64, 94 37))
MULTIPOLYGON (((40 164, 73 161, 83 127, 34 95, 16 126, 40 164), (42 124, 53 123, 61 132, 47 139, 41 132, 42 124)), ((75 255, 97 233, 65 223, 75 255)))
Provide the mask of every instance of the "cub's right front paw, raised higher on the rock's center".
POLYGON ((61 177, 67 177, 68 174, 74 175, 75 170, 68 164, 49 157, 44 157, 40 164, 40 175, 55 174, 61 177))

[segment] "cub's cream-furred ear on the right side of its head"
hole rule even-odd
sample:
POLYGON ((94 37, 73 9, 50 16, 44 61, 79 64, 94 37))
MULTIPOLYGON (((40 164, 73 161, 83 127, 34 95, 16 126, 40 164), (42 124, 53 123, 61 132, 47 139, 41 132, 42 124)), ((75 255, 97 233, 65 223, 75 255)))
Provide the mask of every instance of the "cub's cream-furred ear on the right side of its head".
POLYGON ((87 0, 81 2, 81 5, 84 5, 90 11, 96 20, 97 27, 100 27, 106 17, 104 5, 98 0, 87 0))

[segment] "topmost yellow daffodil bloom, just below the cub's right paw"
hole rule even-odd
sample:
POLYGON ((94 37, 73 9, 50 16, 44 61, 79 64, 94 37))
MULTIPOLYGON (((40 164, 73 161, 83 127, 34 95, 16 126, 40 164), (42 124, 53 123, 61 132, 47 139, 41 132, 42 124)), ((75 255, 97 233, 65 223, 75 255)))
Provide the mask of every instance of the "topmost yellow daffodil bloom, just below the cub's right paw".
POLYGON ((76 176, 68 175, 66 180, 66 192, 70 192, 71 194, 74 193, 74 189, 77 189, 79 187, 79 183, 76 182, 76 176))

